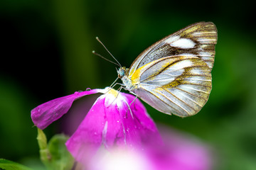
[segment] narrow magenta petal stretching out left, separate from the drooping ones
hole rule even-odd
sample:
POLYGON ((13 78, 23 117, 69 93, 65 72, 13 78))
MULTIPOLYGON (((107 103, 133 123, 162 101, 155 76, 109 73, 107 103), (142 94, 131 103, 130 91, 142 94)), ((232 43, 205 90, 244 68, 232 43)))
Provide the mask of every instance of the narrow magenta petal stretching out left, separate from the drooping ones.
POLYGON ((78 98, 81 98, 82 96, 96 94, 101 91, 101 89, 93 89, 90 91, 82 92, 77 91, 74 94, 70 94, 68 96, 63 96, 60 98, 55 98, 51 101, 43 103, 31 111, 31 118, 33 120, 33 123, 38 128, 43 130, 48 125, 53 123, 55 120, 58 120, 65 113, 67 113, 73 101, 75 101, 78 98))

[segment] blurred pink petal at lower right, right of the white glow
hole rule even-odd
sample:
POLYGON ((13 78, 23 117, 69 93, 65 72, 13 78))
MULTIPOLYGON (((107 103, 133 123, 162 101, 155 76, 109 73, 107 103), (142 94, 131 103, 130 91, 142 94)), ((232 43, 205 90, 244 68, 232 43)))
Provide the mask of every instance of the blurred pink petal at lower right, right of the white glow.
POLYGON ((212 167, 210 149, 190 135, 175 132, 170 128, 160 128, 164 140, 162 147, 151 152, 151 162, 156 169, 168 170, 208 170, 212 167))

